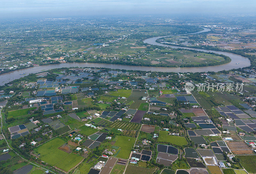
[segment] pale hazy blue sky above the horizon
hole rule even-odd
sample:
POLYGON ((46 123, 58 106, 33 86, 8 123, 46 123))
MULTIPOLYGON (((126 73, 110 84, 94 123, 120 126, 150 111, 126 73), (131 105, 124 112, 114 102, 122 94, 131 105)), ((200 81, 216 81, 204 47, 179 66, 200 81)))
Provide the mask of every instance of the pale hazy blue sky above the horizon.
POLYGON ((256 0, 0 0, 0 18, 256 14, 256 0))

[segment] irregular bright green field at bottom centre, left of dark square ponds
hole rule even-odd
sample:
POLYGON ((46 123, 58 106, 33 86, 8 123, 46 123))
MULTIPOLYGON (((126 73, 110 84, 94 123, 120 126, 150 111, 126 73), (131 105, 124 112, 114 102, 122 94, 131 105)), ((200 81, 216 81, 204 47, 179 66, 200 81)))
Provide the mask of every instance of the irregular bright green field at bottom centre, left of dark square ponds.
POLYGON ((115 146, 121 147, 121 151, 117 154, 117 158, 128 159, 134 146, 136 138, 125 137, 122 135, 117 136, 115 146))

